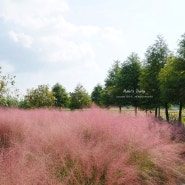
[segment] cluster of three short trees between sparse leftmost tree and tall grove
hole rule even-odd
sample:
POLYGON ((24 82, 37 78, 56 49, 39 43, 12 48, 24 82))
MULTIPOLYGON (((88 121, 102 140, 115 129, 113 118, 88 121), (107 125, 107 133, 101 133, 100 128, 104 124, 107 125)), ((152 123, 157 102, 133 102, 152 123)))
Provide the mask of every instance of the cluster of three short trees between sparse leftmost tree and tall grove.
POLYGON ((72 93, 67 93, 65 88, 56 83, 50 90, 47 85, 28 89, 20 108, 70 108, 82 109, 91 105, 91 98, 85 88, 78 84, 72 93))

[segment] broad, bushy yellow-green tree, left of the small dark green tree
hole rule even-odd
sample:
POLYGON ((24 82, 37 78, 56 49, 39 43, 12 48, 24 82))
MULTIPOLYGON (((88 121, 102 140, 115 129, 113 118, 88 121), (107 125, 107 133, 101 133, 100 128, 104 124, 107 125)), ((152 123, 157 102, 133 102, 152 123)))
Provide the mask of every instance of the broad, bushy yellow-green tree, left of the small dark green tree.
POLYGON ((25 102, 31 108, 52 107, 55 104, 55 97, 47 85, 39 85, 35 89, 27 90, 25 102))

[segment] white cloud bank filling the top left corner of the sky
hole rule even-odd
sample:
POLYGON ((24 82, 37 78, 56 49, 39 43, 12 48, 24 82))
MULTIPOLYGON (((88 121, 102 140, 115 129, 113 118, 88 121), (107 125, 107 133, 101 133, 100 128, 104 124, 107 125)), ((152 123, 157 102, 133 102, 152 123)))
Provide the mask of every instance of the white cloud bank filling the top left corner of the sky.
POLYGON ((69 10, 65 0, 1 0, 0 7, 5 20, 32 29, 44 27, 50 17, 69 10))

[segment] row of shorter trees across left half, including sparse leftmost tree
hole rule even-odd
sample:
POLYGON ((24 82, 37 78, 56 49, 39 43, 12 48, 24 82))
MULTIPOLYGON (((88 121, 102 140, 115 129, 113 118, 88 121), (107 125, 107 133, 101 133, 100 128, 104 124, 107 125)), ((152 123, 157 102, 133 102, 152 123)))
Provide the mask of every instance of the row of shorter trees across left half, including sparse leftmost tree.
POLYGON ((2 75, 0 67, 0 106, 23 109, 52 107, 82 109, 92 103, 91 97, 81 84, 78 84, 71 93, 67 93, 59 83, 51 90, 48 85, 38 85, 36 88, 28 89, 22 100, 14 84, 15 76, 2 75))

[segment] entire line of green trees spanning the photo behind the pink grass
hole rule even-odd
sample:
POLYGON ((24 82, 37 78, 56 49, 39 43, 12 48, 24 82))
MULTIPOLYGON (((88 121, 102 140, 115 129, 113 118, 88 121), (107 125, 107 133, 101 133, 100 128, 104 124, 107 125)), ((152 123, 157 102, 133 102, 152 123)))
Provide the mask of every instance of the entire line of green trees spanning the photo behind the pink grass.
MULTIPOLYGON (((160 116, 164 107, 169 121, 168 108, 179 104, 179 122, 185 105, 185 34, 178 42, 178 49, 170 52, 161 36, 148 47, 145 58, 140 60, 136 53, 131 53, 124 62, 115 61, 108 71, 105 84, 94 87, 91 97, 82 85, 77 85, 74 92, 67 93, 59 83, 50 90, 47 85, 28 89, 24 99, 17 100, 10 89, 14 78, 3 76, 0 70, 0 104, 21 108, 65 107, 82 109, 91 102, 99 106, 133 105, 145 110, 155 109, 155 116, 160 116)), ((16 92, 16 93, 15 93, 16 92)))

